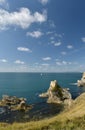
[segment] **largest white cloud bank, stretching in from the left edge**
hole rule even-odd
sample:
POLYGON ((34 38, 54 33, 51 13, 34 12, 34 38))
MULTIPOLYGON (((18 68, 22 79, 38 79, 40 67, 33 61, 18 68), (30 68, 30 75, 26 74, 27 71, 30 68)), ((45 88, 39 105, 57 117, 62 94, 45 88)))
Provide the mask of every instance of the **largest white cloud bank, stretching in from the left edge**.
POLYGON ((18 26, 22 29, 29 28, 32 23, 42 23, 47 20, 47 13, 32 12, 28 8, 20 8, 18 12, 8 12, 0 9, 0 29, 5 30, 9 26, 18 26))

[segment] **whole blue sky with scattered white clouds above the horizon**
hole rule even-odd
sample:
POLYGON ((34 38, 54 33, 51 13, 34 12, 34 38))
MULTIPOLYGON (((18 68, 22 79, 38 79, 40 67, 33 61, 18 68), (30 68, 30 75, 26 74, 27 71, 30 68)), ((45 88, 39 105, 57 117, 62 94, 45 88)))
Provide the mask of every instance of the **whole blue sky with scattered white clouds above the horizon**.
POLYGON ((0 72, 85 71, 85 0, 0 0, 0 72))

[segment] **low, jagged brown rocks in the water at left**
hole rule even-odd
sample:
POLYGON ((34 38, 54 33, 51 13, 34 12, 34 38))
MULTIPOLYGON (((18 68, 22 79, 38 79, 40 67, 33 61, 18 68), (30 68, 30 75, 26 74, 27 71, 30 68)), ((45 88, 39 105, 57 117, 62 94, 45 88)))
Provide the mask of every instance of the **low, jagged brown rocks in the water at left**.
POLYGON ((3 95, 2 100, 0 101, 0 107, 7 107, 8 109, 14 110, 23 110, 27 111, 32 108, 31 105, 26 103, 25 98, 17 98, 16 96, 3 95))

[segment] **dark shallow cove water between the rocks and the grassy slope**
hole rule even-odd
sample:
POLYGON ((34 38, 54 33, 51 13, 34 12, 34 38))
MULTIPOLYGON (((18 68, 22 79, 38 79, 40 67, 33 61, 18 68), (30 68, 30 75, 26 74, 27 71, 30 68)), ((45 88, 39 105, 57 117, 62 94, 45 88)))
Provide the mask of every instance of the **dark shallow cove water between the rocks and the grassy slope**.
POLYGON ((33 108, 28 111, 10 110, 5 106, 0 108, 2 110, 4 108, 5 110, 4 112, 0 113, 0 122, 13 123, 37 121, 53 117, 63 110, 63 105, 41 102, 34 104, 33 108))

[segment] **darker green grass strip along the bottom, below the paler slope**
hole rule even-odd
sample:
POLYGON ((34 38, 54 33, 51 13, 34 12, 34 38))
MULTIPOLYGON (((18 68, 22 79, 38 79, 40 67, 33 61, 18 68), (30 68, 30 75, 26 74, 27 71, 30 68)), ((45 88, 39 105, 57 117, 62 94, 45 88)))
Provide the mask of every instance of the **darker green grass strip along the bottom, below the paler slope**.
POLYGON ((85 116, 71 120, 41 122, 14 123, 12 125, 1 123, 0 130, 85 130, 85 116))

